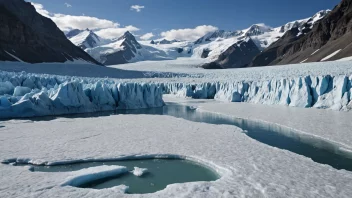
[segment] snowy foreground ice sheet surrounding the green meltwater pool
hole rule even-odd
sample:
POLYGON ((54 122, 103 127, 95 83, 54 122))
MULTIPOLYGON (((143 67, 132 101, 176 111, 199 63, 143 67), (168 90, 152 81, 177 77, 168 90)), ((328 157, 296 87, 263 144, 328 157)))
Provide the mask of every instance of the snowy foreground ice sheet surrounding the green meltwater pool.
MULTIPOLYGON (((306 123, 304 118, 301 121, 306 123)), ((118 167, 43 173, 0 164, 0 197, 347 198, 352 193, 350 172, 259 143, 234 126, 147 115, 10 120, 1 126, 2 159, 43 163, 172 154, 209 165, 221 178, 169 185, 142 196, 123 194, 123 186, 94 190, 62 185, 77 177, 100 175, 99 171, 118 171, 118 167)))

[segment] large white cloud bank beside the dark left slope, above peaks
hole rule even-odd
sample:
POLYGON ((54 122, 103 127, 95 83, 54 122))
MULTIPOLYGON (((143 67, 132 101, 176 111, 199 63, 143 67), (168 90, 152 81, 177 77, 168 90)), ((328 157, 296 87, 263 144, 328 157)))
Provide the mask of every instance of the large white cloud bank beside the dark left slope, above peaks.
POLYGON ((32 3, 32 5, 39 14, 53 20, 62 31, 69 31, 72 29, 84 30, 89 28, 91 30, 96 30, 99 36, 111 39, 121 36, 126 31, 134 32, 139 30, 132 25, 121 27, 119 23, 107 19, 99 19, 85 15, 74 16, 50 13, 44 9, 42 4, 32 3))

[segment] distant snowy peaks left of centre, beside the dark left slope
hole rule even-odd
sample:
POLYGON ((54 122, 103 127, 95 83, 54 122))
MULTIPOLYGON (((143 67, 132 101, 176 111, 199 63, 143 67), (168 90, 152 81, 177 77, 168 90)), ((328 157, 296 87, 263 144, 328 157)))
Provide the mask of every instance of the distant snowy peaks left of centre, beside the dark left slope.
POLYGON ((146 60, 171 60, 191 55, 190 42, 176 40, 137 41, 125 32, 120 38, 107 40, 91 30, 72 30, 66 34, 72 43, 84 49, 105 65, 117 65, 146 60))

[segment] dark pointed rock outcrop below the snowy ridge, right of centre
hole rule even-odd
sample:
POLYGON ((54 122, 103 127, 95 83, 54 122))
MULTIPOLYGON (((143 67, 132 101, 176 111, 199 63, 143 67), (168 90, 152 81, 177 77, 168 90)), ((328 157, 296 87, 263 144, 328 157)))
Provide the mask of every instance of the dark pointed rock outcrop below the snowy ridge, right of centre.
POLYGON ((220 54, 216 61, 203 65, 203 68, 225 69, 246 67, 253 57, 259 53, 260 50, 257 45, 251 38, 247 37, 245 40, 235 43, 225 52, 220 54))

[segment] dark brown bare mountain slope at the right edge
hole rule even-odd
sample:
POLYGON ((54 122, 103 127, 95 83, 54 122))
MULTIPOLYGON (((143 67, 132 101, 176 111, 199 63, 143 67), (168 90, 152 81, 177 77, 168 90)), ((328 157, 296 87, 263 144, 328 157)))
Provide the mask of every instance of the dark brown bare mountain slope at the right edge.
POLYGON ((255 57, 250 66, 331 61, 352 56, 351 19, 352 1, 342 0, 333 11, 315 23, 312 30, 308 29, 299 36, 298 28, 287 31, 255 57))

